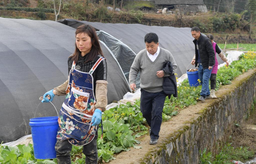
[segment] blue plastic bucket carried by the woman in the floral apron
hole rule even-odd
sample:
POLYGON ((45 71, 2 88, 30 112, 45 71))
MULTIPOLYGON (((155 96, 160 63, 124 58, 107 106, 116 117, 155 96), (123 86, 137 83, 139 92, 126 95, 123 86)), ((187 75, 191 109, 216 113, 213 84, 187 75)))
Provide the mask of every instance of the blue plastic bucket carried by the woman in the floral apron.
POLYGON ((31 118, 29 121, 35 158, 56 158, 55 144, 59 127, 58 117, 31 118))

